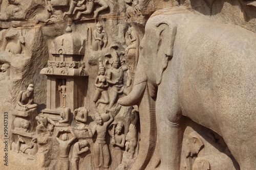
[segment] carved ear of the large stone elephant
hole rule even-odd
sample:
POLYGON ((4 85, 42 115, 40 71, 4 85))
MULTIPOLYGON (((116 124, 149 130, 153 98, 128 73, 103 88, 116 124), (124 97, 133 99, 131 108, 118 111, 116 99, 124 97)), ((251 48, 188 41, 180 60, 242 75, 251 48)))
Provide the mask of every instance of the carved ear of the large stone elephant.
POLYGON ((174 40, 177 31, 177 24, 172 20, 161 20, 156 23, 156 31, 159 33, 159 42, 157 47, 157 72, 156 82, 161 83, 162 74, 168 65, 168 61, 173 57, 174 40))

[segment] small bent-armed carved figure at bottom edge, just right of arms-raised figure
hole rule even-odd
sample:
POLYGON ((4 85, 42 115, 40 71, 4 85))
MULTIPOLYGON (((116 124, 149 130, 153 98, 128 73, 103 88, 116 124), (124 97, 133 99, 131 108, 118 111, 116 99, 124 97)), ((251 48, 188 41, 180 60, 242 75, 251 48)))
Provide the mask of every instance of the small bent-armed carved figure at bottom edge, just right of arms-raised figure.
POLYGON ((87 147, 88 144, 89 142, 87 140, 78 141, 74 144, 73 154, 70 162, 72 170, 79 169, 79 155, 89 150, 89 148, 87 147))

